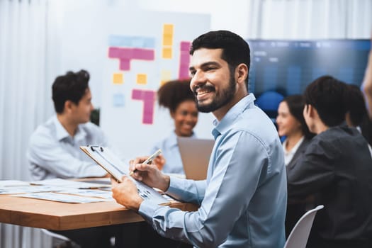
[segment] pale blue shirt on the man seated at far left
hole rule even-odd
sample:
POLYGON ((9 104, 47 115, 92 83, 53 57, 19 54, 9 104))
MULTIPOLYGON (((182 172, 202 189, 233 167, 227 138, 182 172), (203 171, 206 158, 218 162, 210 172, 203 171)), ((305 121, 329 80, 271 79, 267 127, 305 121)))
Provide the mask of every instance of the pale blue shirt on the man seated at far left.
POLYGON ((80 150, 81 145, 106 147, 108 143, 94 123, 80 124, 74 137, 63 128, 57 115, 38 126, 27 152, 33 180, 104 176, 106 171, 80 150))

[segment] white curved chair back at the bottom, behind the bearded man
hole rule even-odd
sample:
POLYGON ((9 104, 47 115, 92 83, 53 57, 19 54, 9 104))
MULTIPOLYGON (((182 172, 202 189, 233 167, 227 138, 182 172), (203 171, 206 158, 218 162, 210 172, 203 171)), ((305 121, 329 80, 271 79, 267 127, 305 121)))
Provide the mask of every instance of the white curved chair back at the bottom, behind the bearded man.
POLYGON ((312 210, 308 210, 301 218, 295 223, 295 227, 288 236, 284 248, 305 248, 308 243, 312 222, 314 222, 317 211, 324 208, 324 205, 318 205, 312 210))

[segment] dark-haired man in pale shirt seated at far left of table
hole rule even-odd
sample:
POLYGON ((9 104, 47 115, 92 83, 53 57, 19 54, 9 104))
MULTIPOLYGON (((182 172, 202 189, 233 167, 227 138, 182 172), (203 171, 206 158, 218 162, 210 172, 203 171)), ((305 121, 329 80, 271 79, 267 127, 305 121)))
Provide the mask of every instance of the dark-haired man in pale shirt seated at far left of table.
MULTIPOLYGON (((27 157, 34 180, 107 176, 80 145, 107 146, 105 135, 89 122, 93 105, 89 73, 67 72, 52 85, 56 115, 40 125, 30 137, 27 157)), ((55 232, 55 231, 53 231, 55 232)), ((58 231, 81 247, 111 247, 115 226, 58 231)))

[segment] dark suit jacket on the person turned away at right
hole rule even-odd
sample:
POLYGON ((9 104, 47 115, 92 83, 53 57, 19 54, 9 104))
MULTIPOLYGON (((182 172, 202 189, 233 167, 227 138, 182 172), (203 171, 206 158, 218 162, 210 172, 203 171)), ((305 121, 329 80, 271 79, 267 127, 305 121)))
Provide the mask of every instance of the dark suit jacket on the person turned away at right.
POLYGON ((288 199, 314 196, 308 247, 369 247, 372 237, 372 159, 363 136, 346 125, 312 138, 288 170, 288 199))

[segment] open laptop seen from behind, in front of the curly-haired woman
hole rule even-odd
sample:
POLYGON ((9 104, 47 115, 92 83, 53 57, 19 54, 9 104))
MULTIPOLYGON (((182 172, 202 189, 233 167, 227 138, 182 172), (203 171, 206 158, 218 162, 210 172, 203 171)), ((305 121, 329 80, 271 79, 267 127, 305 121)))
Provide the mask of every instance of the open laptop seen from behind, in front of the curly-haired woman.
POLYGON ((214 140, 193 137, 177 137, 179 153, 186 179, 203 180, 207 178, 207 169, 214 140))

